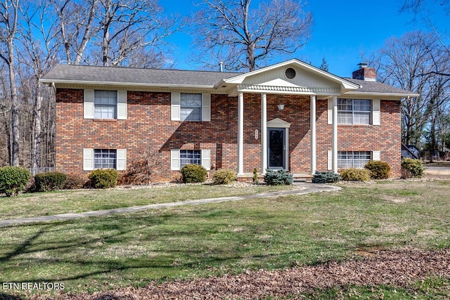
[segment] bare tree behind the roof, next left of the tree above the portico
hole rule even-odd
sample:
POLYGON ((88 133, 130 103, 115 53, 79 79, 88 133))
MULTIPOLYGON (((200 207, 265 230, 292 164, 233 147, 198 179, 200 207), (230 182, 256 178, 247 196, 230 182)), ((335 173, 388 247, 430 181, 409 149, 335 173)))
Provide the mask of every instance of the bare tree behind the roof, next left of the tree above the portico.
POLYGON ((160 46, 177 29, 176 18, 164 18, 162 8, 154 0, 99 0, 96 12, 101 51, 101 65, 160 65, 160 46), (135 54, 146 52, 134 58, 135 54), (142 61, 148 56, 147 60, 142 61), (155 61, 155 58, 158 60, 155 61))

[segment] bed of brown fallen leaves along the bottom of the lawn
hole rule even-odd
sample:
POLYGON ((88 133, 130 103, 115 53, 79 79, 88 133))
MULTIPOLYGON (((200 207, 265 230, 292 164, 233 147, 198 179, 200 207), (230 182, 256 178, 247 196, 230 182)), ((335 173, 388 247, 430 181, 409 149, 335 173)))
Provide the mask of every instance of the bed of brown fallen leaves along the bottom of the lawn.
MULTIPOLYGON (((56 299, 264 299, 295 298, 302 292, 346 285, 409 287, 430 276, 450 278, 450 249, 358 252, 362 259, 286 270, 256 270, 240 275, 178 280, 95 294, 60 294, 56 299)), ((449 295, 450 296, 450 295, 449 295)), ((48 299, 34 296, 32 299, 48 299)))

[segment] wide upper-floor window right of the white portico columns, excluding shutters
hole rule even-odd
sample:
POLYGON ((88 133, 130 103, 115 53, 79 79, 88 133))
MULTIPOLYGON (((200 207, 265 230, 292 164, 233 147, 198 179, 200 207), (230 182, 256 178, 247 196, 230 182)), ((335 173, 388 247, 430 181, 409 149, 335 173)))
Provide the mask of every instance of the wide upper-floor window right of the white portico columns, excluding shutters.
POLYGON ((338 99, 338 124, 371 124, 371 100, 338 99))

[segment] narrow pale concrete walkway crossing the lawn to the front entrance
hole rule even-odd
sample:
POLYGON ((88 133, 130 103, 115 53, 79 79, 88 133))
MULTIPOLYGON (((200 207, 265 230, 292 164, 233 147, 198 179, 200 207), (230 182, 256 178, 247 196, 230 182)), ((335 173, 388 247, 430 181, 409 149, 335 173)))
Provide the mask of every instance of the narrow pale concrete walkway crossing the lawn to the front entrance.
POLYGON ((207 203, 219 203, 219 202, 230 202, 238 200, 248 200, 255 198, 267 198, 267 197, 279 197, 285 195, 302 195, 308 193, 318 193, 318 192, 333 192, 340 190, 341 188, 333 185, 324 184, 314 184, 314 183, 294 183, 295 188, 293 190, 282 190, 279 192, 262 193, 255 195, 243 195, 235 197, 219 197, 219 198, 207 198, 200 200, 186 200, 180 202, 169 202, 161 204, 148 204, 140 205, 137 207, 122 207, 117 209, 104 209, 98 211, 86 211, 78 214, 56 214, 53 216, 36 216, 32 218, 19 218, 0 221, 0 227, 12 226, 12 225, 23 225, 30 223, 45 223, 50 221, 65 221, 72 219, 85 218, 88 216, 108 216, 110 214, 122 214, 122 213, 132 213, 136 211, 146 211, 148 209, 162 209, 164 207, 179 207, 182 205, 198 205, 207 203))

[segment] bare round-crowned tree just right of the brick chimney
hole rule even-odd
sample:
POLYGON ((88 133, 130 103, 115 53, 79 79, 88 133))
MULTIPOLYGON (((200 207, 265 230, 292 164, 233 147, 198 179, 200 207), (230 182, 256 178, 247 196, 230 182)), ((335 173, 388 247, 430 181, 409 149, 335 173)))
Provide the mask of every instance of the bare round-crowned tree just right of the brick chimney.
POLYGON ((440 103, 432 100, 436 95, 435 86, 442 77, 436 74, 436 67, 440 65, 443 69, 439 72, 442 72, 447 65, 437 63, 447 60, 442 56, 445 51, 440 49, 434 34, 410 32, 401 38, 389 39, 379 52, 376 68, 380 81, 420 93, 419 97, 402 102, 404 143, 419 143, 432 108, 440 103))

